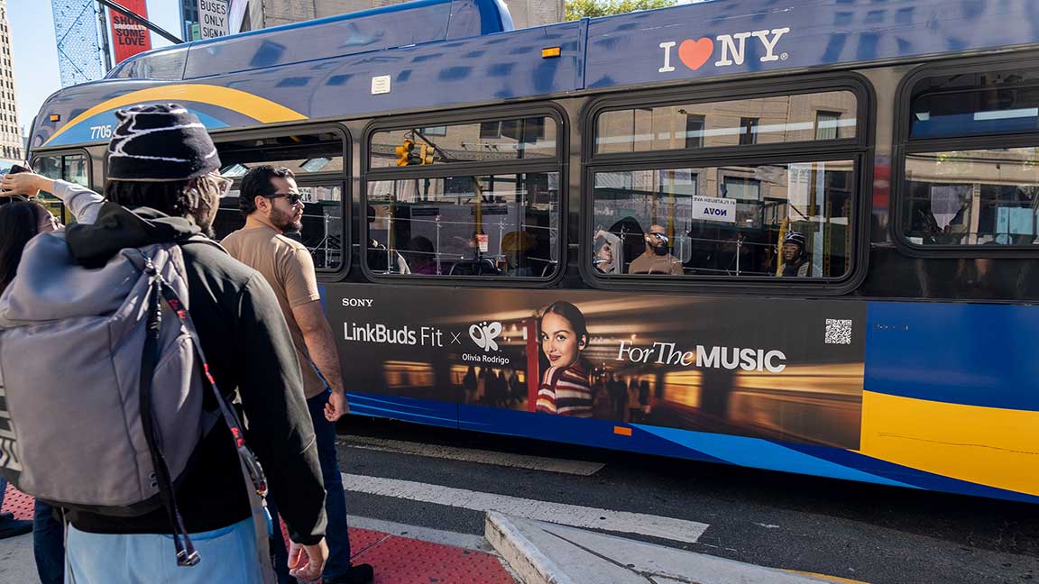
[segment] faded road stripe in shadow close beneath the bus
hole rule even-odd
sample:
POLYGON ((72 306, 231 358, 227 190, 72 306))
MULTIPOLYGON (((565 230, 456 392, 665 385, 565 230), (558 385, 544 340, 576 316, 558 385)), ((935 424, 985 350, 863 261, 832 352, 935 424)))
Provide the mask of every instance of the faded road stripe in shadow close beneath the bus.
POLYGON ((400 454, 430 456, 434 458, 450 458, 452 460, 462 460, 465 462, 480 462, 483 464, 514 467, 516 469, 530 469, 533 471, 565 473, 568 475, 581 476, 593 475, 606 466, 603 462, 566 460, 562 458, 549 458, 545 456, 527 456, 524 454, 509 454, 507 452, 492 452, 487 450, 477 450, 474 448, 458 448, 455 446, 441 446, 436 444, 422 444, 417 442, 404 442, 399 440, 385 440, 369 436, 341 437, 340 444, 348 448, 377 450, 380 452, 397 452, 400 454))

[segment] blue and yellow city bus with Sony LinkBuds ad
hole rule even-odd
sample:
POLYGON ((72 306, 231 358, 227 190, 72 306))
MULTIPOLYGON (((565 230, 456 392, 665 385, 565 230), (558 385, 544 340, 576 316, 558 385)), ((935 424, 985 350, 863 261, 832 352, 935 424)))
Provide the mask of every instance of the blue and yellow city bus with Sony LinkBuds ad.
POLYGON ((128 59, 31 163, 162 102, 290 168, 354 414, 1036 502, 1037 63, 1029 0, 418 0, 128 59))

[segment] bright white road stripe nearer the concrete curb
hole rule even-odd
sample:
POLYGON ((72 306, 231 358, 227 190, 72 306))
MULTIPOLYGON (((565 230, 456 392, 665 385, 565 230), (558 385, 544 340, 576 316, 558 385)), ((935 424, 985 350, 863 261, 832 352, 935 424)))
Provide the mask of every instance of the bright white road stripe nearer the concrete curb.
POLYGON ((347 490, 355 493, 421 501, 474 511, 499 511, 508 515, 559 525, 637 533, 686 543, 695 543, 708 528, 708 524, 704 523, 660 515, 551 503, 438 484, 348 475, 346 473, 343 473, 343 486, 347 490))

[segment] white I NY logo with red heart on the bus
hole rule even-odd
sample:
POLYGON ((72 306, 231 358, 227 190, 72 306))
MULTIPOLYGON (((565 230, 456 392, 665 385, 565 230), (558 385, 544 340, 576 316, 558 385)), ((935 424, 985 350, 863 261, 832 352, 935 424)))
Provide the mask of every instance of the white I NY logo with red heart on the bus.
POLYGON ((710 36, 687 38, 682 43, 667 41, 660 44, 660 48, 664 50, 664 67, 657 71, 659 73, 674 71, 674 67, 671 64, 671 55, 674 53, 675 46, 678 47, 678 60, 682 61, 682 64, 693 71, 707 64, 715 53, 718 54, 718 60, 714 62, 715 67, 743 64, 747 54, 748 38, 754 38, 765 49, 765 56, 761 57, 762 62, 787 60, 790 58, 790 55, 787 53, 776 54, 776 45, 779 44, 779 38, 788 32, 790 32, 789 27, 773 28, 772 30, 751 30, 735 34, 719 34, 714 38, 710 36))

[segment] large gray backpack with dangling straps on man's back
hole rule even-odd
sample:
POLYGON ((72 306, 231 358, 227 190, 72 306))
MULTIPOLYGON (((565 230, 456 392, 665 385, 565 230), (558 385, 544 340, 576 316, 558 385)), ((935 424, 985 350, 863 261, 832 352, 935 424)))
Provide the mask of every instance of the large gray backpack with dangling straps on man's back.
POLYGON ((164 506, 178 563, 194 565, 174 494, 198 442, 223 418, 252 486, 266 558, 257 510, 265 513, 263 471, 209 374, 187 298, 178 244, 126 248, 88 269, 73 260, 64 234, 33 238, 0 295, 0 473, 59 507, 136 516, 164 506), (206 386, 218 412, 203 408, 206 386))

